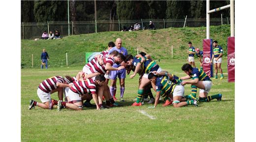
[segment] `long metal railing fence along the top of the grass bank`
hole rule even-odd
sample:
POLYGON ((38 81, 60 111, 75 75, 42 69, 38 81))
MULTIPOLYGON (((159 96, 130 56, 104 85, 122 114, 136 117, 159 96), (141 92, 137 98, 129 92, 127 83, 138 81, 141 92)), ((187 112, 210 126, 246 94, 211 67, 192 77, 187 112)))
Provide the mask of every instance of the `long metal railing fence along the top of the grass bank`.
MULTIPOLYGON (((141 25, 141 29, 147 29, 149 22, 155 24, 156 29, 169 27, 200 27, 206 26, 206 18, 188 18, 186 19, 140 19, 140 20, 97 20, 97 21, 47 21, 47 22, 22 22, 21 39, 41 38, 43 31, 58 30, 61 36, 68 36, 68 26, 70 35, 79 35, 104 31, 121 31, 124 27, 129 27, 135 23, 141 25)), ((210 25, 229 24, 230 18, 212 18, 210 25)))

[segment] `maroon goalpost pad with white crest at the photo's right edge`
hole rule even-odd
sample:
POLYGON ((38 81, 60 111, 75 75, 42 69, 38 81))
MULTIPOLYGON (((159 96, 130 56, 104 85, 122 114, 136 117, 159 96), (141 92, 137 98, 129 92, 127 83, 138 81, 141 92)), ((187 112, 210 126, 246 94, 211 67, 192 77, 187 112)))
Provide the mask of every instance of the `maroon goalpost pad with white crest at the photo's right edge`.
POLYGON ((235 82, 235 37, 227 38, 227 76, 228 82, 235 82))

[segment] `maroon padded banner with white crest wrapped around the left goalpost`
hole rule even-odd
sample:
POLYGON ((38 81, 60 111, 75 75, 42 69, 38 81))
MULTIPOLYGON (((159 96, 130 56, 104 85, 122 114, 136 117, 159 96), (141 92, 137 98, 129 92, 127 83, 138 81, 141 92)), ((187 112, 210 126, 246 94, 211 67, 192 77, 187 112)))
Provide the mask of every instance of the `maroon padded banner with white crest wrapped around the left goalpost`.
POLYGON ((203 40, 203 71, 209 76, 213 77, 212 59, 212 39, 203 40))

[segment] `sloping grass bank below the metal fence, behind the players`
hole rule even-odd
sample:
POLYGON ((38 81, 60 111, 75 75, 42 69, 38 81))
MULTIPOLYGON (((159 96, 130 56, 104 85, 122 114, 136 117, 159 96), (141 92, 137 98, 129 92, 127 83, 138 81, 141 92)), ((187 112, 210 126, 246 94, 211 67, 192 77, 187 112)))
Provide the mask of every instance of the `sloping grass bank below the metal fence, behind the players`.
MULTIPOLYGON (((219 45, 224 48, 225 56, 230 27, 228 25, 211 26, 210 33, 210 38, 217 40, 219 45)), ((206 38, 206 27, 171 27, 135 32, 111 31, 73 35, 61 40, 21 40, 21 66, 31 68, 33 54, 33 66, 39 67, 43 48, 49 54, 50 67, 66 66, 66 52, 68 66, 83 66, 85 52, 102 51, 107 47, 108 42, 115 42, 117 38, 123 40, 123 47, 128 49, 129 54, 135 55, 138 47, 139 51, 145 51, 155 59, 171 59, 171 46, 173 45, 173 58, 186 59, 189 41, 194 47, 202 49, 202 40, 206 38)))

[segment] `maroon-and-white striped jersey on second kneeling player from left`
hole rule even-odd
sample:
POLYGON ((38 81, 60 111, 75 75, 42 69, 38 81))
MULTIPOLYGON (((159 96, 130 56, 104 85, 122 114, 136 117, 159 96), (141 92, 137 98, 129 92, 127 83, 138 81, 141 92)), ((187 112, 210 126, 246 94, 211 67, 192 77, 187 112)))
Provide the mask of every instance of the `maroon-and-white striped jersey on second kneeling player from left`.
POLYGON ((74 93, 85 95, 89 94, 96 94, 96 85, 92 78, 83 80, 83 81, 75 81, 74 84, 70 88, 71 91, 74 93))

